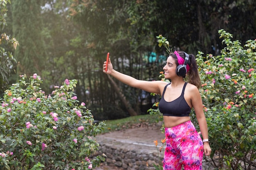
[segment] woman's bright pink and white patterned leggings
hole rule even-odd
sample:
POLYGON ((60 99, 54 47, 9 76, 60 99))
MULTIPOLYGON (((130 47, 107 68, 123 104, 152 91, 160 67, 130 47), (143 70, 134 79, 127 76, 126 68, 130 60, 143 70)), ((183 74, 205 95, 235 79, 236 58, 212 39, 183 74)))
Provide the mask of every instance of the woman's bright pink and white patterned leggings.
POLYGON ((202 170, 203 142, 191 121, 165 128, 163 170, 202 170))

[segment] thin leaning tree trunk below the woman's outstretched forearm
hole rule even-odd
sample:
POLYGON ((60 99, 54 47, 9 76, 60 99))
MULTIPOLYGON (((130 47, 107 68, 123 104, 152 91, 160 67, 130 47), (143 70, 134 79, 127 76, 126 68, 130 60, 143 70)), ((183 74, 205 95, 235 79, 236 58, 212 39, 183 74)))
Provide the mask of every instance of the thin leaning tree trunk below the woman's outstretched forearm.
POLYGON ((120 96, 121 102, 124 104, 124 106, 126 107, 126 109, 128 110, 128 113, 130 114, 130 116, 137 116, 137 112, 135 112, 135 110, 133 110, 130 102, 128 100, 126 100, 126 97, 124 96, 124 94, 121 92, 121 89, 117 86, 117 84, 115 83, 115 81, 112 79, 112 77, 110 77, 110 75, 108 75, 108 78, 110 79, 111 84, 114 86, 115 91, 118 93, 118 95, 120 96))

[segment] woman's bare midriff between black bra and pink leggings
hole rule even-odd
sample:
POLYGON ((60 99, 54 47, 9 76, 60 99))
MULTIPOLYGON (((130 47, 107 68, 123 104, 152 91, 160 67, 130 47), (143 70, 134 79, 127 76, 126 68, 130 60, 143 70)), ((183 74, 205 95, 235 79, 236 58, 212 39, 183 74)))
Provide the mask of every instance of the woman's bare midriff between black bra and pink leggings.
POLYGON ((164 127, 172 128, 179 124, 183 124, 186 121, 190 121, 189 116, 177 117, 177 116, 164 116, 164 127))

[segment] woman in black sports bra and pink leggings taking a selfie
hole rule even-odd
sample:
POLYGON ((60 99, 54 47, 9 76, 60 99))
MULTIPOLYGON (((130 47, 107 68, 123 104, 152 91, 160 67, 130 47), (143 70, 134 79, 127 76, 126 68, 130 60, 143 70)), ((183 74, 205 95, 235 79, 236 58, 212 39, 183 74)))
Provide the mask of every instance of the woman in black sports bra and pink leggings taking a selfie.
POLYGON ((201 82, 195 56, 185 52, 171 53, 164 66, 164 81, 138 80, 113 69, 111 61, 103 64, 103 72, 112 75, 119 81, 140 88, 150 93, 160 94, 159 110, 164 117, 166 149, 164 153, 163 170, 202 170, 203 153, 211 154, 208 140, 207 122, 198 88, 201 82), (184 82, 188 75, 189 81, 184 82), (195 130, 189 114, 194 109, 203 141, 195 130))

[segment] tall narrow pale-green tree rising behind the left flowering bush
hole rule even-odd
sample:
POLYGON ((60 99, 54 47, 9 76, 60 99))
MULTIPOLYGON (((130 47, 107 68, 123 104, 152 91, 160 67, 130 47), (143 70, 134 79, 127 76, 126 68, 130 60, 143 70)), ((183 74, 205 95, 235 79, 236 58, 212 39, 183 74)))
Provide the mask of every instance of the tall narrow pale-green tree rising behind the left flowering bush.
POLYGON ((44 77, 45 44, 42 38, 41 0, 13 1, 11 12, 13 34, 20 40, 14 56, 18 60, 17 74, 38 73, 44 77))

